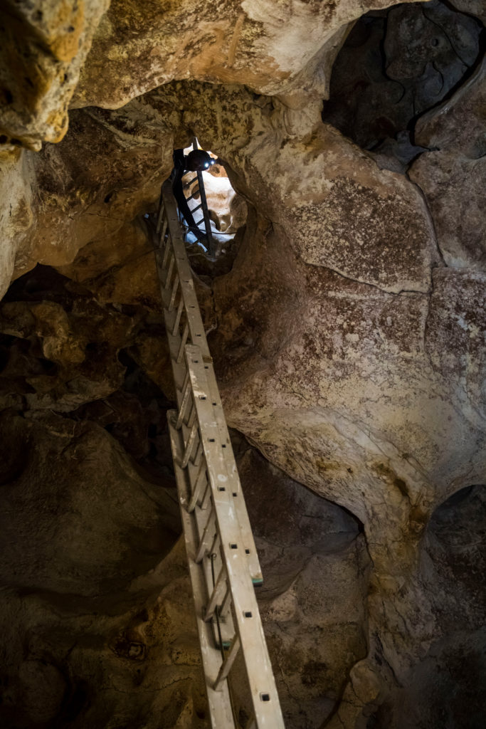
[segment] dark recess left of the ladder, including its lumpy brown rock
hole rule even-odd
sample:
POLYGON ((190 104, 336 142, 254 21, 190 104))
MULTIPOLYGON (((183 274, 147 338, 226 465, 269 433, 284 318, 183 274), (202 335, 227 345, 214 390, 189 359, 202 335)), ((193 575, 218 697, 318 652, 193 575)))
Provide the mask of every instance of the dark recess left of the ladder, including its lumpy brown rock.
POLYGON ((0 402, 23 413, 45 408, 47 398, 59 416, 106 429, 146 477, 171 486, 167 411, 175 404, 141 367, 141 337, 165 341, 162 318, 141 305, 101 305, 82 284, 39 265, 10 286, 0 309, 0 402), (45 343, 59 323, 66 351, 54 348, 50 359, 45 343), (110 333, 116 338, 119 327, 121 348, 110 333))

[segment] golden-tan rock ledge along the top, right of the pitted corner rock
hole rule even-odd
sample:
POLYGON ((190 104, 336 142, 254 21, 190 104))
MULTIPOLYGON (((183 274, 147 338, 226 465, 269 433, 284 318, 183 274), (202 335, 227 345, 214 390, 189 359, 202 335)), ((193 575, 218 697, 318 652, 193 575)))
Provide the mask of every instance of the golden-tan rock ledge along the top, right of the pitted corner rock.
POLYGON ((240 83, 257 93, 326 95, 348 23, 383 0, 275 4, 205 0, 195 7, 114 0, 74 104, 114 109, 173 79, 240 83))

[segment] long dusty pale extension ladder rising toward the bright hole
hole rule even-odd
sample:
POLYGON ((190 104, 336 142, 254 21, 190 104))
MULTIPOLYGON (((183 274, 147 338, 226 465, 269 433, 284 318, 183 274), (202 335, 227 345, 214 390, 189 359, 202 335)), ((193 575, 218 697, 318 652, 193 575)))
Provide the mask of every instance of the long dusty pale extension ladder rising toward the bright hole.
POLYGON ((154 248, 177 396, 168 427, 211 726, 284 729, 254 592, 262 572, 169 181, 154 248))

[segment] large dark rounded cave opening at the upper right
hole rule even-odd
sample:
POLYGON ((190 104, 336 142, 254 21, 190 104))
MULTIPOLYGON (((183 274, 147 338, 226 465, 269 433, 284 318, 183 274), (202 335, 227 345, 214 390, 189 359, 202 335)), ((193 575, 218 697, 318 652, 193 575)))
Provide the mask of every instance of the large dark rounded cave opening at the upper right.
POLYGON ((322 119, 404 171, 423 152, 418 118, 463 85, 484 45, 482 23, 442 0, 372 10, 337 55, 322 119))

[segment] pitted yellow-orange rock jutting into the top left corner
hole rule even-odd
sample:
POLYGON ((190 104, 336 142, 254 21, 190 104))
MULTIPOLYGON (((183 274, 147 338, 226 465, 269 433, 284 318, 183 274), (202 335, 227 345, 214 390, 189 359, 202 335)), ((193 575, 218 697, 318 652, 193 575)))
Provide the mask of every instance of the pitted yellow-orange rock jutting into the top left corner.
POLYGON ((4 0, 0 151, 60 141, 68 105, 109 0, 4 0))

